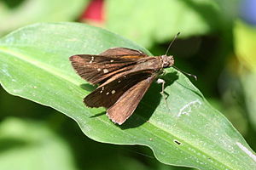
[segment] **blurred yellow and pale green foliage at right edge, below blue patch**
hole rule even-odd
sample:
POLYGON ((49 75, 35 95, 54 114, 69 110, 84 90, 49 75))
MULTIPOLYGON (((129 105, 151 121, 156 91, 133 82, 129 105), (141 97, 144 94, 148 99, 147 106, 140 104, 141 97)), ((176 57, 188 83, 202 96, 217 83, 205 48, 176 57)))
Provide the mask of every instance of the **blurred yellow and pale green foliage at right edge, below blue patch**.
POLYGON ((256 130, 256 28, 239 20, 234 27, 234 36, 235 51, 241 67, 239 69, 239 79, 242 93, 249 121, 256 130))

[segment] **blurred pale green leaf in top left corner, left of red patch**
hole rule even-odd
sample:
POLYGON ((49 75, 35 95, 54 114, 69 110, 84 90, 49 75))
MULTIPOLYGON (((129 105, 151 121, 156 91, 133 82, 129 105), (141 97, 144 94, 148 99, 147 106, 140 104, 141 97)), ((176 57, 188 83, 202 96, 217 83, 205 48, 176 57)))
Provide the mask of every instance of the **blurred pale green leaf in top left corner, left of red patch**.
POLYGON ((35 22, 76 20, 86 2, 88 0, 0 1, 0 36, 35 22))

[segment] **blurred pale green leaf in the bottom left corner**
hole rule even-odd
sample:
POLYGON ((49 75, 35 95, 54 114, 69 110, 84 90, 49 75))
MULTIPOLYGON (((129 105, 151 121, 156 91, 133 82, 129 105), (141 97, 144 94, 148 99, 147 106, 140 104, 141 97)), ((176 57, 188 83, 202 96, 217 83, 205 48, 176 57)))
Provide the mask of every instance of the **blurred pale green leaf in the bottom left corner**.
POLYGON ((77 169, 67 143, 43 122, 4 120, 0 124, 0 150, 0 169, 77 169))

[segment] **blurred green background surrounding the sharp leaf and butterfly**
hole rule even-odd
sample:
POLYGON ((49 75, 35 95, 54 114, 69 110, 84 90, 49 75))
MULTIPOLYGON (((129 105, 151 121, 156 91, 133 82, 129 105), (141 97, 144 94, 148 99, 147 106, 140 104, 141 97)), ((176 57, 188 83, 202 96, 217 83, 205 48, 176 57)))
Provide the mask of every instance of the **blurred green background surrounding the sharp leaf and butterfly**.
MULTIPOLYGON (((256 150, 256 1, 0 0, 0 37, 37 22, 102 26, 154 54, 172 38, 176 66, 256 150)), ((76 122, 0 90, 0 169, 189 169, 143 146, 97 143, 76 122)))

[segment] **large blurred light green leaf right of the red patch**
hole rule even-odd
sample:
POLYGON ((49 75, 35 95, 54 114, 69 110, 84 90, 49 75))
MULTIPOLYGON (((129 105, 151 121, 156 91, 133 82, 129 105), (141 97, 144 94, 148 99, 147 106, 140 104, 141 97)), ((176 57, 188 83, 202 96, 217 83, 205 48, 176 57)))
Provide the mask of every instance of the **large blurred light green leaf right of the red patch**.
POLYGON ((189 37, 223 29, 230 23, 228 16, 238 4, 236 0, 226 3, 212 0, 112 0, 106 3, 108 29, 147 48, 154 42, 170 41, 177 32, 181 32, 180 37, 189 37))

